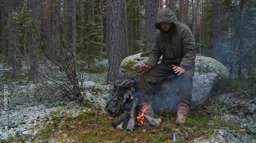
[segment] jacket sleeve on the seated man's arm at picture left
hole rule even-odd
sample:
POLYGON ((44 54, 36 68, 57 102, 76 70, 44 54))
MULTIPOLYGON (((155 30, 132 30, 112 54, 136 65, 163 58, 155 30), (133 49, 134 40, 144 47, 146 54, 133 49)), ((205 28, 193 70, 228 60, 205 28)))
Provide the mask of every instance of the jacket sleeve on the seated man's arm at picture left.
POLYGON ((150 56, 148 56, 146 64, 151 65, 152 69, 156 67, 156 65, 159 62, 160 56, 162 55, 162 49, 160 48, 159 44, 159 38, 160 38, 161 32, 157 31, 154 45, 151 49, 150 56))

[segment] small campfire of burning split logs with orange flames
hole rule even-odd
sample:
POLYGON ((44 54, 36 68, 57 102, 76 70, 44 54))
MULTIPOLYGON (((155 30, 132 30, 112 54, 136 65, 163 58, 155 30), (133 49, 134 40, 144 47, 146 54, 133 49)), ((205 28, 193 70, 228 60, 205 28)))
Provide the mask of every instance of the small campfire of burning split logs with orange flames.
POLYGON ((132 109, 130 112, 126 112, 126 114, 117 120, 113 125, 116 128, 122 130, 136 130, 141 128, 153 128, 158 127, 160 125, 161 119, 154 119, 147 115, 145 111, 148 107, 140 107, 140 99, 135 98, 133 101, 132 109))

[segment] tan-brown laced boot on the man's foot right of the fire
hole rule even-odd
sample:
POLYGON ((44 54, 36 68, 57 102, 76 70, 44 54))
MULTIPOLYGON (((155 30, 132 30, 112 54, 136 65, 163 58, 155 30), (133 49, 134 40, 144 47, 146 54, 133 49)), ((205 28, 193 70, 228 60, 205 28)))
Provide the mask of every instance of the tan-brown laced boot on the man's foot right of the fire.
POLYGON ((179 103, 176 124, 185 124, 187 111, 188 111, 188 105, 184 103, 179 103))

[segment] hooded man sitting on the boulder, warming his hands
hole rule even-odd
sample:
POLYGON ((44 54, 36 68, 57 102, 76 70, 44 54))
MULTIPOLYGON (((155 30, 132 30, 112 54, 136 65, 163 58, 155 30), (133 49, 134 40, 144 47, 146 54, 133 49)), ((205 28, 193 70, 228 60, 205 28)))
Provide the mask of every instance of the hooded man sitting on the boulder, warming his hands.
POLYGON ((169 75, 178 75, 178 111, 176 123, 184 124, 188 107, 191 106, 192 78, 195 71, 196 45, 193 35, 185 24, 179 22, 170 9, 162 9, 157 14, 155 27, 158 29, 146 65, 139 78, 142 105, 152 110, 154 85, 169 75), (158 64, 162 55, 162 62, 158 64))

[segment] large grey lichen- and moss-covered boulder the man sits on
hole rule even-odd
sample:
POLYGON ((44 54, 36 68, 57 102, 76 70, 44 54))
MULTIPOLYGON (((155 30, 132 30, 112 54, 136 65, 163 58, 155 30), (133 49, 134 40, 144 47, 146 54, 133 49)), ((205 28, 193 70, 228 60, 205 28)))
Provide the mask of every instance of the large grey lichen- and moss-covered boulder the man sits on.
MULTIPOLYGON (((140 57, 141 53, 128 56, 125 58, 119 68, 120 79, 138 79, 141 71, 139 66, 145 64, 148 56, 140 57)), ((161 62, 161 58, 159 63, 161 62)), ((214 85, 220 80, 228 80, 229 72, 227 68, 215 59, 196 56, 195 74, 193 77, 193 105, 196 103, 205 102, 210 95, 214 85)), ((177 77, 169 76, 156 87, 155 93, 155 108, 165 110, 173 108, 176 105, 175 97, 177 95, 177 77)))

